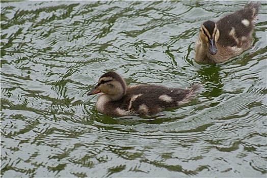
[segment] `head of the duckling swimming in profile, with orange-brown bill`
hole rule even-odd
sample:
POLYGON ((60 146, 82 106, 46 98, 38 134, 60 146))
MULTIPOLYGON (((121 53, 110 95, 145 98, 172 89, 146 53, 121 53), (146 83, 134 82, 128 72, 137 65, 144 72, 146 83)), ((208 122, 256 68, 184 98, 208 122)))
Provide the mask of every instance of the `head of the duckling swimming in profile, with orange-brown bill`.
POLYGON ((120 100, 126 93, 126 83, 116 72, 107 72, 99 78, 97 85, 87 95, 98 93, 103 93, 111 101, 120 100))

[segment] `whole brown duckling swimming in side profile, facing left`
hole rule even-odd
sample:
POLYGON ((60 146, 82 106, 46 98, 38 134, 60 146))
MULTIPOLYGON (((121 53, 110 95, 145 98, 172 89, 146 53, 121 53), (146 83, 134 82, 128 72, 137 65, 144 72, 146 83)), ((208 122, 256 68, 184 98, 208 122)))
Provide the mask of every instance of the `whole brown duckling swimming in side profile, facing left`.
POLYGON ((165 108, 179 106, 192 98, 200 84, 186 89, 160 85, 130 85, 116 72, 103 74, 97 85, 87 94, 101 94, 96 109, 110 115, 148 115, 165 108))

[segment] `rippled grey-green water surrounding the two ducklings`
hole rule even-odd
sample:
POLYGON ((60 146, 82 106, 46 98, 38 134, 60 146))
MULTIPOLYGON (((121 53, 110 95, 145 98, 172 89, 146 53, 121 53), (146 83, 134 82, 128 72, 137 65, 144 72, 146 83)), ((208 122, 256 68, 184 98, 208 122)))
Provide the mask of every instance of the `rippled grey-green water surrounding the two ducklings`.
POLYGON ((245 4, 2 1, 2 177, 266 177, 266 2, 252 49, 193 60, 201 23, 245 4), (113 117, 86 95, 109 70, 203 87, 161 116, 113 117))

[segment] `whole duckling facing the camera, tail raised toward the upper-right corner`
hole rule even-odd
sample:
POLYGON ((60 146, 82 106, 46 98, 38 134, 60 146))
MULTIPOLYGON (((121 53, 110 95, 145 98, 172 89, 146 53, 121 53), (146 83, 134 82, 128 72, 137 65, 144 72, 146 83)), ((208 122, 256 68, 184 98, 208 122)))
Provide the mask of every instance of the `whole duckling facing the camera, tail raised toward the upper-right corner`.
POLYGON ((251 2, 217 22, 204 22, 195 46, 195 61, 221 63, 250 48, 259 7, 260 2, 251 2))

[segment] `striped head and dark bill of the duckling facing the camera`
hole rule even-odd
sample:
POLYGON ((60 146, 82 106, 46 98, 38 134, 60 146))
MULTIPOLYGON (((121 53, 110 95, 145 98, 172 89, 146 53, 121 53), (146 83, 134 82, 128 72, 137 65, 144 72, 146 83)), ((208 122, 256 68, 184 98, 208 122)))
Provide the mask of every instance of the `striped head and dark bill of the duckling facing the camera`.
POLYGON ((212 55, 217 53, 216 43, 220 37, 217 24, 213 21, 206 21, 200 27, 199 37, 202 43, 206 43, 208 46, 208 52, 212 55))

